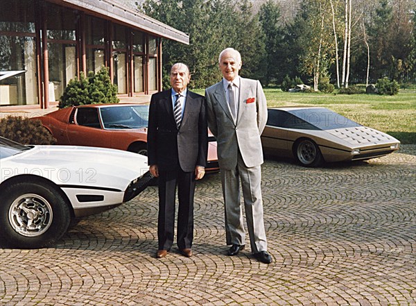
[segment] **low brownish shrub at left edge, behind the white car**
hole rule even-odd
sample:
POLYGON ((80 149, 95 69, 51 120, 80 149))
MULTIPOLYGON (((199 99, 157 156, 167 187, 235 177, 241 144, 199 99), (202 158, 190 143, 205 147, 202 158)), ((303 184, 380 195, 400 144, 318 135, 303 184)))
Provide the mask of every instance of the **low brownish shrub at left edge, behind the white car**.
POLYGON ((0 135, 21 144, 55 144, 40 120, 8 116, 0 120, 0 135))

